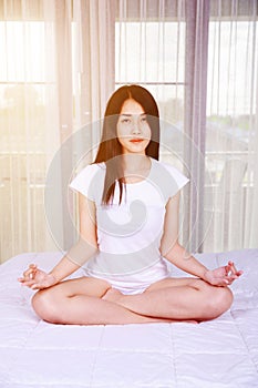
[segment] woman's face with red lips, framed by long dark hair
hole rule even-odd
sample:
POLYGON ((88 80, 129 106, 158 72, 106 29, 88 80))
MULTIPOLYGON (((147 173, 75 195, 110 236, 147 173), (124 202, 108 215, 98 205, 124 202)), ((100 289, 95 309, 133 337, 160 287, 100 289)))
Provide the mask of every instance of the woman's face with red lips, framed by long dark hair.
POLYGON ((152 131, 143 106, 133 99, 124 102, 117 121, 117 139, 123 153, 145 154, 152 131))

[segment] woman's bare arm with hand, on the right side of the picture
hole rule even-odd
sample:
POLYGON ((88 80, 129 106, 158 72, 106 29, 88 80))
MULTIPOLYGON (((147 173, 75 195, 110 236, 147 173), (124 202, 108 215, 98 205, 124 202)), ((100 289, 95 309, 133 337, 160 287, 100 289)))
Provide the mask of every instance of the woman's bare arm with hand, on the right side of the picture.
POLYGON ((210 270, 190 255, 178 243, 178 217, 179 193, 171 198, 166 205, 164 234, 161 243, 161 253, 166 259, 188 274, 216 286, 227 286, 242 274, 241 270, 236 269, 233 262, 210 270))

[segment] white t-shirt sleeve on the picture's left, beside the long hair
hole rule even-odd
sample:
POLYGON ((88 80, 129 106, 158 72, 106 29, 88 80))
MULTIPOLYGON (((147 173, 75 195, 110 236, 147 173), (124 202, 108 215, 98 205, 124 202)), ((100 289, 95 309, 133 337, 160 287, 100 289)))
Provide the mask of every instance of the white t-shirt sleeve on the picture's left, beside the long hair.
POLYGON ((95 202, 96 190, 100 191, 100 180, 103 181, 102 170, 97 164, 87 165, 75 176, 69 187, 95 202))

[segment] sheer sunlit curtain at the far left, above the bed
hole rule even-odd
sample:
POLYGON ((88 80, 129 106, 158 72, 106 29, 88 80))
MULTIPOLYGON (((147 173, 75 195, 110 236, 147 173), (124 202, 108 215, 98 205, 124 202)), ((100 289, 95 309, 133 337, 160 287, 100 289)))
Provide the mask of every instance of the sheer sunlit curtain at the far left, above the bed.
POLYGON ((1 262, 21 252, 51 248, 43 188, 59 145, 52 11, 51 2, 1 2, 1 262))

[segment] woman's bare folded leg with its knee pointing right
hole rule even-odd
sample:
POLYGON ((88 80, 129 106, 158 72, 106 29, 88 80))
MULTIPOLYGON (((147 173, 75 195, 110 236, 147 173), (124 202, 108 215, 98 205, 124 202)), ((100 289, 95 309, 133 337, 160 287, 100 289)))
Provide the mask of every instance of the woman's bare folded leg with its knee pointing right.
POLYGON ((200 279, 165 279, 153 284, 143 294, 116 298, 116 304, 131 312, 173 319, 214 319, 231 305, 227 287, 215 287, 200 279))

